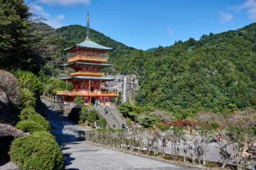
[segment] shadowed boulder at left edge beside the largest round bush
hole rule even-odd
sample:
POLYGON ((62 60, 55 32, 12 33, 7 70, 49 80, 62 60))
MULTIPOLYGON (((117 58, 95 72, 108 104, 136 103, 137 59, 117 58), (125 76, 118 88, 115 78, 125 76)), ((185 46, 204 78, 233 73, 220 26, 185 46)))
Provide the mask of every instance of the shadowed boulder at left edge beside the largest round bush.
POLYGON ((29 133, 24 133, 8 124, 0 124, 0 164, 10 161, 8 151, 10 150, 11 142, 15 138, 27 136, 29 133))

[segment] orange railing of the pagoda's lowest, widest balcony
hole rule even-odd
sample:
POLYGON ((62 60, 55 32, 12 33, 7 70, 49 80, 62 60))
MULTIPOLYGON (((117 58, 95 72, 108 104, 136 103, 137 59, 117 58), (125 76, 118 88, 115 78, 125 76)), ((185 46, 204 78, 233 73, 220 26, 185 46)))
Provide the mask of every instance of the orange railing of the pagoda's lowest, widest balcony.
POLYGON ((60 96, 119 96, 118 91, 57 91, 60 96))

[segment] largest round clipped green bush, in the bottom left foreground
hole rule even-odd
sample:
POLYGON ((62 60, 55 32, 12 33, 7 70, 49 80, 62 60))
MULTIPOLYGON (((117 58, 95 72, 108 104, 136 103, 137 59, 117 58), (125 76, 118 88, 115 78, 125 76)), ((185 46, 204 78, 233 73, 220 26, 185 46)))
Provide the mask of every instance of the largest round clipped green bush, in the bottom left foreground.
POLYGON ((13 140, 10 156, 20 169, 63 169, 63 153, 45 131, 13 140))

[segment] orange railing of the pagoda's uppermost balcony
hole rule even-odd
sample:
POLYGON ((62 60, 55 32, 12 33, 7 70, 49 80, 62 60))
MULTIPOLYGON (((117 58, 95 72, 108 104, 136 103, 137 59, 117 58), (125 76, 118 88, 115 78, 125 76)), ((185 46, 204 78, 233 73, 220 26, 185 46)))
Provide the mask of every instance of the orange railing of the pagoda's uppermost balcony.
POLYGON ((71 58, 68 58, 69 62, 74 62, 77 60, 88 60, 88 61, 97 61, 97 62, 107 62, 108 61, 108 57, 103 57, 103 56, 98 56, 93 55, 91 53, 82 53, 82 54, 77 54, 71 58))

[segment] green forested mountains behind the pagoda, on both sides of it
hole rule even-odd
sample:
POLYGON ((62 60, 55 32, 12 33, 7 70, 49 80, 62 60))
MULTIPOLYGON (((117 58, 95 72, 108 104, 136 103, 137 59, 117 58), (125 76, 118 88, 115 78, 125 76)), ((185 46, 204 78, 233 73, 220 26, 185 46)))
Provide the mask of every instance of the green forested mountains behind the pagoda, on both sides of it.
MULTIPOLYGON (((177 41, 152 52, 130 48, 92 29, 90 39, 115 48, 109 61, 114 67, 108 71, 139 75, 138 105, 153 105, 184 119, 199 110, 229 113, 255 108, 255 30, 253 23, 239 30, 204 34, 198 41, 177 41)), ((86 27, 80 25, 54 30, 34 24, 37 32, 35 46, 46 46, 51 54, 46 70, 66 62, 63 48, 86 37, 86 27)))

